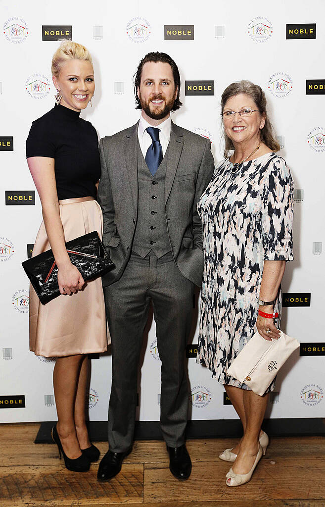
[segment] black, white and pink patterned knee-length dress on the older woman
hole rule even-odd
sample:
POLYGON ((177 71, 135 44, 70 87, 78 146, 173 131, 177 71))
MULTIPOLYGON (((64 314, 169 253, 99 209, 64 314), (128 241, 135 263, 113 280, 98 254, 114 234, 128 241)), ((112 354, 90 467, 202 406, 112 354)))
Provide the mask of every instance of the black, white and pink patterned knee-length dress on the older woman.
POLYGON ((220 383, 249 389, 226 371, 256 332, 264 261, 293 260, 294 190, 275 153, 232 169, 229 159, 220 162, 197 204, 205 257, 197 361, 220 383))

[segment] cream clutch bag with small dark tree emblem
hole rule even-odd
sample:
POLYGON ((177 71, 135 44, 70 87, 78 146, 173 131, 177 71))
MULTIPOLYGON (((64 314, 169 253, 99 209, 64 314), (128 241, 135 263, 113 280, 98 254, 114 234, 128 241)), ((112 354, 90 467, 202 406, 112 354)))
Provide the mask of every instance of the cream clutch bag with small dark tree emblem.
POLYGON ((255 333, 227 370, 227 375, 245 383, 262 396, 275 375, 300 343, 282 331, 280 337, 267 341, 255 333))

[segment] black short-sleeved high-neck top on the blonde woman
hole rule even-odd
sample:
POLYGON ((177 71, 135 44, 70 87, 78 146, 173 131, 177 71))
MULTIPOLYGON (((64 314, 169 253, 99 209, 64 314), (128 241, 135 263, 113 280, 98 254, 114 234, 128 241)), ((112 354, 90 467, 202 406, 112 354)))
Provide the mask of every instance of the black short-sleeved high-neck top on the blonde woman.
POLYGON ((98 137, 80 113, 55 105, 32 123, 26 140, 26 157, 55 159, 58 199, 92 196, 100 178, 98 137))

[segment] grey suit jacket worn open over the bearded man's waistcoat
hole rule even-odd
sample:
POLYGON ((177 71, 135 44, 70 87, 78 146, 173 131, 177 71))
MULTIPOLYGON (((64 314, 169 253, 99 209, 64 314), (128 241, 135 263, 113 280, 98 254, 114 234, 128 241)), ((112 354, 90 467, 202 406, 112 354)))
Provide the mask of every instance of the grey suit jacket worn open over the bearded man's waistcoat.
MULTIPOLYGON (((102 172, 98 202, 103 210, 103 243, 115 264, 103 277, 104 286, 121 276, 131 255, 138 217, 138 123, 103 137, 99 143, 102 172)), ((210 148, 209 139, 172 122, 165 179, 167 228, 177 267, 198 286, 204 256, 196 204, 213 175, 210 148)))

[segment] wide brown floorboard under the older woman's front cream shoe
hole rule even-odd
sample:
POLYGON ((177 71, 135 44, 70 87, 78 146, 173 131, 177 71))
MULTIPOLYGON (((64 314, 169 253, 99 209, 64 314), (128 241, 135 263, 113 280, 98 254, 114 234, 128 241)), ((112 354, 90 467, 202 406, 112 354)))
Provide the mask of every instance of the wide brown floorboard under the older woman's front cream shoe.
MULTIPOLYGON (((272 460, 273 461, 273 460, 272 460)), ((225 475, 230 465, 226 462, 201 463, 193 467, 191 477, 185 483, 177 483, 165 467, 145 465, 144 501, 163 504, 166 501, 325 498, 325 463, 320 458, 310 458, 306 466, 293 458, 279 458, 276 463, 262 459, 252 480, 245 486, 228 488, 225 475)))

